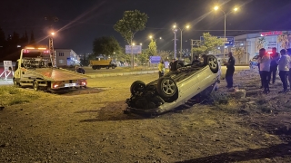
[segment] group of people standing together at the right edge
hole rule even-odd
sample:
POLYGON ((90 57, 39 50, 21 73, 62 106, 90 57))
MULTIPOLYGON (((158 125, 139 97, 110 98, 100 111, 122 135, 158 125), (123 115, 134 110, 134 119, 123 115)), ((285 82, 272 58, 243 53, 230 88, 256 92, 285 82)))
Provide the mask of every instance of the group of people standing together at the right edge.
POLYGON ((276 72, 279 71, 279 77, 283 83, 283 91, 287 89, 287 78, 291 89, 291 52, 290 49, 282 49, 280 53, 276 52, 276 48, 272 49, 272 53, 266 53, 266 49, 262 48, 259 50, 259 56, 257 59, 258 70, 261 77, 261 89, 264 88, 264 93, 269 93, 269 84, 276 82, 276 72), (273 78, 271 80, 271 78, 273 78))

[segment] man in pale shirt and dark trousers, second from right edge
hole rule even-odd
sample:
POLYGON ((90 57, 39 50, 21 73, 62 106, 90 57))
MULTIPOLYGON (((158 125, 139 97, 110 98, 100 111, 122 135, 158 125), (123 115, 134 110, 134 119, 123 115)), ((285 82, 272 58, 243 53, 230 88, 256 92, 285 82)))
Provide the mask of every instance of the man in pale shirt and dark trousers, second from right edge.
POLYGON ((281 56, 276 59, 276 63, 278 64, 279 76, 283 83, 283 91, 279 91, 279 93, 287 91, 287 74, 288 74, 288 65, 291 62, 290 57, 286 55, 286 50, 282 49, 280 51, 281 56))

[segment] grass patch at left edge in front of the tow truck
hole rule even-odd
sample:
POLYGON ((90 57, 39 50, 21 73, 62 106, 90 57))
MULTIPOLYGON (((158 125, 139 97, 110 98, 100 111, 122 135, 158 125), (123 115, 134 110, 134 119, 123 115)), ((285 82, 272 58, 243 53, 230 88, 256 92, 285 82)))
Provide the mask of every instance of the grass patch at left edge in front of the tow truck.
POLYGON ((48 96, 52 96, 52 94, 45 93, 43 91, 15 88, 14 86, 0 87, 0 105, 3 106, 27 103, 48 96))

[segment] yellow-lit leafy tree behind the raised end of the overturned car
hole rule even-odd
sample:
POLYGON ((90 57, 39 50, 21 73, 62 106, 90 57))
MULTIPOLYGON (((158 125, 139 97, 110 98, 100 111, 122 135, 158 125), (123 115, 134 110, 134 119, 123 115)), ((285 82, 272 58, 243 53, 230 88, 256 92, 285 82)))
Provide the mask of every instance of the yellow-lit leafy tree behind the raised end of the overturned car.
POLYGON ((208 54, 209 52, 216 52, 218 46, 222 46, 223 40, 217 38, 216 36, 212 36, 209 33, 203 34, 204 40, 201 41, 198 47, 192 49, 192 53, 196 55, 208 54))

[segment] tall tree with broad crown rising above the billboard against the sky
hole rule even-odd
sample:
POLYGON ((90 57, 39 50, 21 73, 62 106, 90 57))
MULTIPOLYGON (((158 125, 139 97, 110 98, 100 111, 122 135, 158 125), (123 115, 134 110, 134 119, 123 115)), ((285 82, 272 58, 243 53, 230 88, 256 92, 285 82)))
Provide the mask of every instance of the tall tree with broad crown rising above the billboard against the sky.
MULTIPOLYGON (((147 14, 141 13, 138 10, 125 11, 122 19, 114 25, 116 32, 124 37, 125 41, 132 45, 135 34, 146 28, 147 14)), ((134 56, 132 55, 132 66, 134 67, 134 56)))

